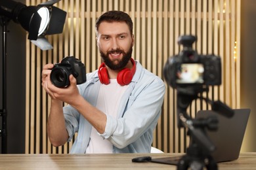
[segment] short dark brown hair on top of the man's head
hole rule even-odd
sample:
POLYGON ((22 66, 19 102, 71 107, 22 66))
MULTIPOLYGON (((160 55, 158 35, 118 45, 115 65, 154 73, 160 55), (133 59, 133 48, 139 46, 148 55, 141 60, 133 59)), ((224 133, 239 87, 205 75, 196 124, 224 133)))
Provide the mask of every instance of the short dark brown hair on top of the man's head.
POLYGON ((129 27, 131 35, 133 35, 133 21, 131 20, 131 17, 125 12, 119 10, 110 10, 102 14, 96 20, 96 35, 98 35, 98 27, 102 22, 125 22, 129 27))

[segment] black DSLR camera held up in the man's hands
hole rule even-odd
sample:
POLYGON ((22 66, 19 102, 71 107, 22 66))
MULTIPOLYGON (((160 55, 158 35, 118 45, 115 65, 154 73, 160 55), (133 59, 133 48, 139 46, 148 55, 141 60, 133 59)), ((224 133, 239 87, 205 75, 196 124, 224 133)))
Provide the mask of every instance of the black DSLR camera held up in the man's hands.
POLYGON ((60 63, 54 64, 50 78, 54 86, 66 88, 70 85, 70 75, 73 75, 77 84, 86 82, 85 65, 79 59, 68 56, 60 63))

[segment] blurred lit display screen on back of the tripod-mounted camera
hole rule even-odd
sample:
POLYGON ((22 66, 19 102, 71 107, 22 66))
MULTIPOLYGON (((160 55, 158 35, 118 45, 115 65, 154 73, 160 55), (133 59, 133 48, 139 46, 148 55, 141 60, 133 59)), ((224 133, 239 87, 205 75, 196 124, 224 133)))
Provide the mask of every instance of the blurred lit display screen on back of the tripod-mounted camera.
POLYGON ((201 63, 183 63, 181 70, 177 72, 177 83, 203 83, 203 64, 201 63))

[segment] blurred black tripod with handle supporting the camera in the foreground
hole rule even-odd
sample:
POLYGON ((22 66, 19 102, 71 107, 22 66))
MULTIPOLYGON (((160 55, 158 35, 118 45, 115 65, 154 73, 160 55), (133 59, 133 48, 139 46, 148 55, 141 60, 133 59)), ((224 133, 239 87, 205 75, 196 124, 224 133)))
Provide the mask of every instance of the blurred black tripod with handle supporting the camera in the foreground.
MULTIPOLYGON (((195 120, 186 114, 186 109, 194 99, 204 99, 203 97, 198 97, 198 93, 205 91, 208 91, 208 88, 202 88, 202 86, 177 88, 178 127, 187 127, 187 134, 191 139, 186 155, 182 156, 181 160, 179 160, 178 170, 188 169, 189 167, 192 170, 201 170, 203 167, 209 170, 218 169, 216 161, 211 156, 215 146, 206 133, 206 129, 217 129, 217 117, 212 116, 207 119, 195 120)), ((205 101, 209 102, 210 100, 205 99, 205 101)), ((233 111, 220 101, 211 102, 211 104, 213 110, 217 112, 228 110, 226 116, 232 116, 233 111)))

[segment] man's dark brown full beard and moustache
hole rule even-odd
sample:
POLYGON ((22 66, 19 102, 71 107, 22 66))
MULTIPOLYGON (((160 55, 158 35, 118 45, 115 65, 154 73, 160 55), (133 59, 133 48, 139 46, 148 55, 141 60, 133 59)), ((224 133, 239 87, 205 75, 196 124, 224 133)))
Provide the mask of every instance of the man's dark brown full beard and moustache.
POLYGON ((131 48, 129 49, 129 51, 127 53, 125 53, 123 50, 117 49, 117 50, 111 50, 111 51, 107 52, 107 54, 104 54, 102 51, 100 51, 100 56, 102 58, 102 61, 108 67, 110 67, 110 69, 112 69, 112 70, 121 70, 121 69, 125 68, 125 66, 129 62, 129 60, 131 59, 131 54, 132 53, 133 53, 133 46, 131 46, 131 48), (114 61, 111 61, 109 55, 111 53, 115 53, 115 52, 123 54, 123 58, 115 59, 114 61), (115 63, 116 61, 118 61, 118 62, 115 63))

